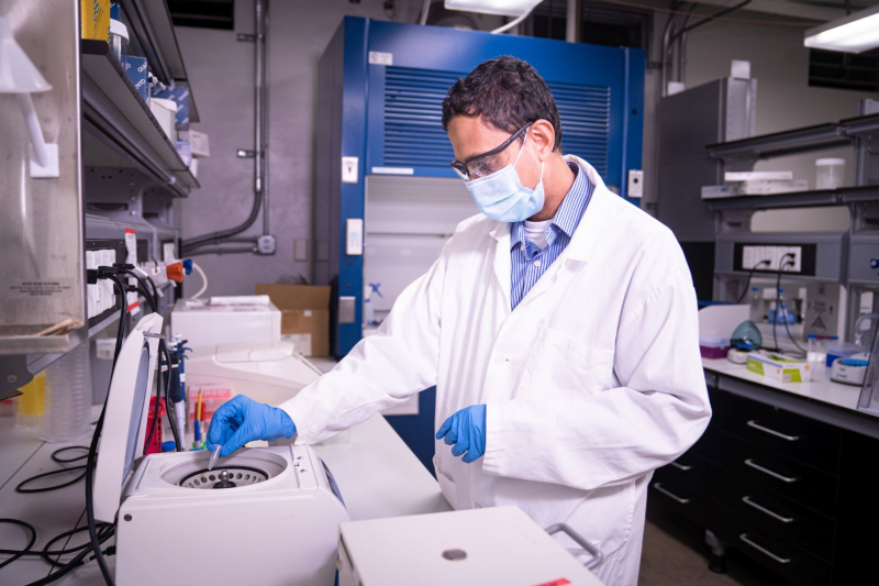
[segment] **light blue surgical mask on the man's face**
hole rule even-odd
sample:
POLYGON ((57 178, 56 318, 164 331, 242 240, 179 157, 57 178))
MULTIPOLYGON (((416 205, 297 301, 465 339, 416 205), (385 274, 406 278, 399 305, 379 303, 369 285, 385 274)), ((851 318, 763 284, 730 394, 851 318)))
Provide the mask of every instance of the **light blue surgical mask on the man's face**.
POLYGON ((522 222, 543 209, 543 163, 541 163, 541 178, 534 189, 528 189, 522 185, 515 166, 522 151, 525 150, 527 134, 522 142, 515 161, 492 173, 488 177, 480 177, 471 181, 465 181, 467 190, 470 191, 476 201, 476 207, 492 220, 501 222, 522 222))

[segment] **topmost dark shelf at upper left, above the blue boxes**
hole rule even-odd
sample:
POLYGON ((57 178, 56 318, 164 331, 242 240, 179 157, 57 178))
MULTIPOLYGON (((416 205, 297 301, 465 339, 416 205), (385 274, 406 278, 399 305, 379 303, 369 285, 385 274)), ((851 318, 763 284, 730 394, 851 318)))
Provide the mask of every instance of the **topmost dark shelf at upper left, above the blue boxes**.
MULTIPOLYGON (((149 69, 166 86, 175 81, 189 87, 189 76, 183 65, 183 56, 174 32, 174 22, 165 0, 120 0, 129 32, 135 47, 138 47, 149 63, 149 69)), ((189 90, 189 119, 199 122, 199 112, 189 90)))

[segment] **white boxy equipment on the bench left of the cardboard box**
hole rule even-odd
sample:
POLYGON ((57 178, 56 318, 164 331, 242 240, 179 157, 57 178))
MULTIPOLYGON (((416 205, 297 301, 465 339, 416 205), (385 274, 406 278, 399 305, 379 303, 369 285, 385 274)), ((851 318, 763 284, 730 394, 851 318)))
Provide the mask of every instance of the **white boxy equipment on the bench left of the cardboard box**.
POLYGON ((210 301, 180 299, 171 312, 171 331, 188 346, 225 342, 277 342, 281 339, 281 312, 268 296, 235 297, 234 303, 213 297, 210 301))

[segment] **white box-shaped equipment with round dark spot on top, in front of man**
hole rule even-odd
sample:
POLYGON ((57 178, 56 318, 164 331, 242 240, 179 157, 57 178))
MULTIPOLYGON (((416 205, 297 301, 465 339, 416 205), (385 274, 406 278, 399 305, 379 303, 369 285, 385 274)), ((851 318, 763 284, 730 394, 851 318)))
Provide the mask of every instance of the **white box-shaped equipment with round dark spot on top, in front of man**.
MULTIPOLYGON (((519 507, 349 521, 340 526, 338 585, 570 584, 599 586, 586 566, 519 507)), ((568 533, 570 535, 570 533, 568 533)), ((586 540, 577 535, 578 542, 586 540)))

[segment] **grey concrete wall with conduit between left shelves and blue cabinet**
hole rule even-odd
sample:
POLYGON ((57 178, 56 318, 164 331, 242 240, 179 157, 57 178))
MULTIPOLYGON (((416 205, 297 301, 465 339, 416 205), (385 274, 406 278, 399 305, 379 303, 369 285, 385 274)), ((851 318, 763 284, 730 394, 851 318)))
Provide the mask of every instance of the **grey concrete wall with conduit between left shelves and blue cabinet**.
MULTIPOLYGON (((387 14, 383 0, 291 1, 269 5, 269 218, 277 237, 274 256, 203 255, 196 262, 208 273, 207 296, 253 294, 255 283, 298 281, 308 262, 293 259, 294 241, 308 242, 312 221, 312 169, 318 60, 345 15, 415 22, 423 2, 397 0, 387 14)), ((235 2, 235 31, 178 26, 211 157, 199 162, 201 189, 179 203, 183 237, 237 225, 253 204, 253 159, 237 158, 254 147, 254 45, 236 40, 254 32, 253 0, 235 2)), ((480 27, 497 18, 476 16, 480 27)), ((262 217, 245 235, 262 233, 262 217)), ((194 277, 191 295, 201 287, 194 277)))

